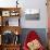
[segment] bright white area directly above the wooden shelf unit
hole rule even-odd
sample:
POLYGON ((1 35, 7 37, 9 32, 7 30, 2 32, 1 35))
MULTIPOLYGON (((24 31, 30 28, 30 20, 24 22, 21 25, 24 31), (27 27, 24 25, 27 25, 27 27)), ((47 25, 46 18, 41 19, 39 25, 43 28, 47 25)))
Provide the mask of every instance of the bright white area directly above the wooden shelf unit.
POLYGON ((1 8, 9 8, 9 7, 15 7, 15 0, 0 0, 0 7, 1 8))

